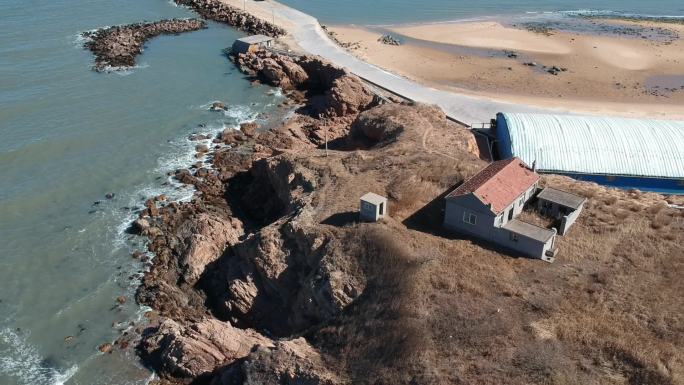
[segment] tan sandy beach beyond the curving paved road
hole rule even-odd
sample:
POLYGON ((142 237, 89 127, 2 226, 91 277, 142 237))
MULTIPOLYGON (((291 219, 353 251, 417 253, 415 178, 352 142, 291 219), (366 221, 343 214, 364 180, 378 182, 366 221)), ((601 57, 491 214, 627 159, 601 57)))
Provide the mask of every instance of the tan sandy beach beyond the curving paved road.
POLYGON ((532 31, 499 22, 328 29, 357 57, 438 89, 540 107, 562 101, 589 113, 684 118, 684 26, 601 22, 674 37, 532 31), (383 33, 403 44, 380 43, 383 33), (548 72, 553 67, 555 75, 548 72))

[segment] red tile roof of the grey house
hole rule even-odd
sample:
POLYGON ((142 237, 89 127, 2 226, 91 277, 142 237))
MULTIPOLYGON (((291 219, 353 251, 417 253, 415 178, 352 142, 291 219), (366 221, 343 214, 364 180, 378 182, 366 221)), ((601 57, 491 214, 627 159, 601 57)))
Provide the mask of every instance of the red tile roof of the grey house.
POLYGON ((485 205, 491 205, 492 212, 499 215, 538 180, 539 174, 520 159, 499 160, 463 182, 446 199, 472 193, 485 205))

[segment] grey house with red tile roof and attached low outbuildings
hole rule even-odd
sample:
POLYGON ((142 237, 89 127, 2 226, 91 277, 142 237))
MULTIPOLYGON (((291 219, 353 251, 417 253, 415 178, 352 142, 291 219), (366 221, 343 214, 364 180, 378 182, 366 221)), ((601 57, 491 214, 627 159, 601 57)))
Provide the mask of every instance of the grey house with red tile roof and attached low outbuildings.
MULTIPOLYGON (((446 196, 444 226, 552 262, 557 230, 516 219, 525 204, 536 197, 539 178, 518 158, 491 163, 446 196)), ((549 216, 567 217, 563 227, 567 231, 579 216, 583 198, 553 189, 544 196, 547 199, 540 199, 540 204, 546 205, 549 216)))

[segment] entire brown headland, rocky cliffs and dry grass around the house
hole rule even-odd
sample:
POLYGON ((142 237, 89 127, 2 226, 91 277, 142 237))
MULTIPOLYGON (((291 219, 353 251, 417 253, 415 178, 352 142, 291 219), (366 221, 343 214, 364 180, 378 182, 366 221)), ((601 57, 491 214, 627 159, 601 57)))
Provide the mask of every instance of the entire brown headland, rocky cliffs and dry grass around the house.
POLYGON ((133 224, 155 254, 137 346, 159 383, 683 378, 677 198, 545 176, 590 203, 557 263, 511 258, 441 230, 441 197, 486 162, 439 108, 315 57, 233 59, 295 114, 226 129, 210 168, 175 174, 194 199, 151 198, 133 224), (359 222, 368 191, 385 221, 359 222))

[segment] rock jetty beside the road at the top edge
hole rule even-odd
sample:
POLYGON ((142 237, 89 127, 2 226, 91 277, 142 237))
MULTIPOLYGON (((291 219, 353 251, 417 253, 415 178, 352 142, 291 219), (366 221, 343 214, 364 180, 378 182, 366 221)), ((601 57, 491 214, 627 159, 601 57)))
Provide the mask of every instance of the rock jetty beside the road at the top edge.
POLYGON ((241 31, 251 34, 260 34, 271 37, 279 37, 287 32, 277 25, 247 13, 239 8, 232 7, 220 0, 174 0, 176 4, 186 6, 205 19, 225 23, 241 31))

